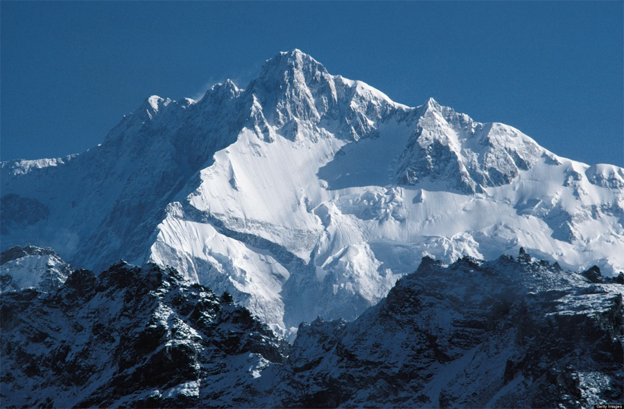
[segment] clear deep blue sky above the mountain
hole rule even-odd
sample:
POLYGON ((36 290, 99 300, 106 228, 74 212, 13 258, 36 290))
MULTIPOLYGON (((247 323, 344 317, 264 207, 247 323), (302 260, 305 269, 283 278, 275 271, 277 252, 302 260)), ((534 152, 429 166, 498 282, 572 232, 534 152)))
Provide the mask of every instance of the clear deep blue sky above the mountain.
POLYGON ((3 161, 84 152, 150 95, 245 87, 300 48, 397 102, 624 165, 622 1, 1 1, 0 19, 3 161))

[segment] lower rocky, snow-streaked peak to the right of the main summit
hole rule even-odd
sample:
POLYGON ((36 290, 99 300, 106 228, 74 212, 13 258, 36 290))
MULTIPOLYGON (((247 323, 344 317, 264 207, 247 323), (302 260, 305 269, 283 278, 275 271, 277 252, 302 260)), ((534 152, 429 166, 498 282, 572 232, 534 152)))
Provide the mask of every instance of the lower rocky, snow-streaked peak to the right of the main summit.
POLYGON ((544 153, 534 140, 499 123, 475 122, 433 98, 419 107, 417 129, 401 154, 399 183, 443 180, 467 194, 508 185, 544 153))

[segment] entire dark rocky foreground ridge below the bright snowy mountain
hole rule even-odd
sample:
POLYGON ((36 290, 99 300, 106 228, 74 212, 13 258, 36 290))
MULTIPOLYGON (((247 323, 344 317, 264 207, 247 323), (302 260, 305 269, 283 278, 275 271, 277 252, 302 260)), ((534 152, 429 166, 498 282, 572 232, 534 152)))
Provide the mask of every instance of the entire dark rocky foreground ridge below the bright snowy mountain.
POLYGON ((74 271, 1 300, 1 406, 582 408, 623 399, 624 276, 424 257, 292 347, 174 269, 74 271))

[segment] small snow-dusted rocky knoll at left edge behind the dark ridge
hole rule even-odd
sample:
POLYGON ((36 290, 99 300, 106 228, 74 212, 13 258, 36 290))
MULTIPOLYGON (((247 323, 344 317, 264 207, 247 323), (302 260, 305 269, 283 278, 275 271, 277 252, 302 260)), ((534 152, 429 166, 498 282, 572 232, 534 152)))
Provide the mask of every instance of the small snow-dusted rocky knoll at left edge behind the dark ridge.
POLYGON ((33 287, 50 293, 60 288, 72 271, 52 248, 15 246, 0 255, 0 292, 33 287))

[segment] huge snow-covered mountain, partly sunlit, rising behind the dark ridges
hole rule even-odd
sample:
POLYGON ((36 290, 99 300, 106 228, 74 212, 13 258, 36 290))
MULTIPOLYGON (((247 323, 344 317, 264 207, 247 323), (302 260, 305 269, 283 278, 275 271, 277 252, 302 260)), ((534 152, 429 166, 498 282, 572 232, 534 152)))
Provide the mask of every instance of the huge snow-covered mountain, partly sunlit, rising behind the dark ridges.
POLYGON ((155 262, 275 329, 352 320, 422 256, 520 246, 564 268, 624 269, 624 170, 428 100, 411 108, 298 50, 245 89, 153 96, 104 142, 1 165, 3 248, 101 271, 155 262))

